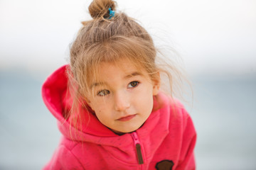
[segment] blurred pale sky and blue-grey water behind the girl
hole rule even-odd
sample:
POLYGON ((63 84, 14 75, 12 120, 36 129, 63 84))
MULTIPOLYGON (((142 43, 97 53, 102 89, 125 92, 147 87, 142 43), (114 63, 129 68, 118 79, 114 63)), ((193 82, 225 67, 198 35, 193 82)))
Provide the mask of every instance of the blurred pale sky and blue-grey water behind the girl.
MULTIPOLYGON (((67 63, 87 0, 0 0, 0 169, 41 169, 58 145, 41 99, 67 63)), ((174 47, 193 84, 197 169, 256 169, 256 1, 118 1, 157 47, 174 47)), ((171 53, 170 53, 171 55, 171 53)), ((171 56, 170 56, 171 57, 171 56)))

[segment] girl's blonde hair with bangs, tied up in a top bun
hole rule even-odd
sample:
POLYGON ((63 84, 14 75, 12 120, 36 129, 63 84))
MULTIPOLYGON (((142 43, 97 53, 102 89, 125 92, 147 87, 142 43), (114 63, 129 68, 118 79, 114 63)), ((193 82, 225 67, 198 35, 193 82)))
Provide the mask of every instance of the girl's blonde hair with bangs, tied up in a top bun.
POLYGON ((68 77, 73 98, 71 115, 80 115, 79 106, 88 108, 83 98, 90 93, 89 82, 97 79, 97 67, 101 62, 129 60, 138 69, 146 70, 152 80, 159 79, 156 73, 164 73, 169 78, 171 94, 174 78, 181 75, 174 65, 167 64, 171 69, 169 72, 156 64, 154 42, 139 23, 117 11, 109 19, 109 8, 115 11, 116 3, 112 0, 93 0, 89 6, 93 19, 82 22, 83 26, 70 47, 68 77))

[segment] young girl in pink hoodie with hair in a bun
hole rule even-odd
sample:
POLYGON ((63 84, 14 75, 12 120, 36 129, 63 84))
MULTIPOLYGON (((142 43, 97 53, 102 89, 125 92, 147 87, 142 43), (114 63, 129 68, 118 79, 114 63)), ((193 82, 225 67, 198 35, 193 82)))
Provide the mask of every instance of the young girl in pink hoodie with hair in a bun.
POLYGON ((63 134, 43 169, 195 169, 196 131, 181 103, 159 90, 149 33, 114 1, 94 0, 91 21, 70 47, 70 64, 43 84, 63 134))

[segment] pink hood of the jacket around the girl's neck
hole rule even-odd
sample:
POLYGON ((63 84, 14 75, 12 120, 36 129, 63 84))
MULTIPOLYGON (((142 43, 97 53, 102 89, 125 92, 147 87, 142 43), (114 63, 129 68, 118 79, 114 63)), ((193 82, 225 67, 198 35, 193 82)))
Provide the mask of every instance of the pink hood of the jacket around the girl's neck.
MULTIPOLYGON (((42 87, 42 96, 43 101, 46 104, 50 113, 58 120, 58 128, 60 132, 71 140, 76 141, 85 141, 85 142, 95 142, 101 145, 116 145, 130 140, 130 135, 125 134, 122 137, 114 134, 110 129, 102 125, 95 114, 92 114, 88 111, 85 111, 85 120, 88 120, 85 125, 82 125, 84 128, 82 130, 75 128, 73 125, 70 125, 69 119, 65 119, 66 109, 71 106, 71 99, 67 95, 68 91, 68 76, 66 74, 66 69, 68 65, 60 67, 53 74, 46 79, 42 87), (129 137, 128 137, 129 136, 129 137), (118 138, 114 139, 115 137, 118 138)), ((169 101, 169 98, 164 94, 159 94, 158 97, 161 101, 169 101)), ((154 102, 156 106, 156 102, 154 102)), ((167 105, 166 105, 167 106, 167 105)), ((137 130, 138 135, 141 137, 148 136, 151 132, 154 132, 155 137, 159 135, 159 131, 167 134, 169 132, 169 114, 167 113, 169 107, 161 107, 157 111, 153 111, 149 116, 148 120, 144 123, 142 128, 137 130), (162 111, 164 110, 164 111, 162 111), (160 116, 161 113, 161 116, 160 116), (159 125, 159 123, 161 123, 159 125), (158 128, 156 128, 158 127, 158 128)), ((161 134, 158 140, 161 140, 165 135, 161 134)))

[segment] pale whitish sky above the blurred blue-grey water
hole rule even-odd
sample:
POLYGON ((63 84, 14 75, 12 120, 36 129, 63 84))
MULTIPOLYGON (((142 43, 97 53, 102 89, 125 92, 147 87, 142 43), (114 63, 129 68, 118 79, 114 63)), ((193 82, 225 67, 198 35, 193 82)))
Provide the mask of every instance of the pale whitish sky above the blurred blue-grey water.
MULTIPOLYGON (((67 63, 86 0, 0 0, 0 70, 50 73, 67 63)), ((160 50, 174 48, 189 74, 255 74, 255 0, 118 1, 151 33, 160 50)), ((171 52, 166 50, 171 56, 171 52)))

